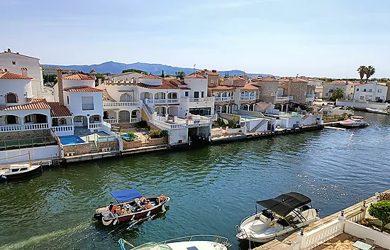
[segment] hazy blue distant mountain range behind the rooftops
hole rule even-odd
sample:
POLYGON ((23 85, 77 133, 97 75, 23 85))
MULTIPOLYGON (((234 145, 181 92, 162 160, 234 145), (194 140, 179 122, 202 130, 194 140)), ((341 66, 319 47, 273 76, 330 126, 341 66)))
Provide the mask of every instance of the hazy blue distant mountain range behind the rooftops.
MULTIPOLYGON (((135 62, 135 63, 121 63, 121 62, 103 62, 101 64, 93 64, 93 65, 45 65, 52 67, 60 67, 63 70, 79 70, 82 72, 90 72, 91 70, 95 70, 98 73, 111 73, 111 74, 120 74, 122 70, 135 69, 135 70, 143 70, 146 72, 151 72, 153 75, 161 75, 162 70, 164 70, 165 74, 174 75, 175 72, 183 71, 186 75, 194 72, 193 68, 189 67, 173 67, 169 65, 155 64, 155 63, 146 63, 146 62, 135 62)), ((196 69, 201 70, 201 69, 196 69)), ((208 69, 213 70, 213 69, 208 69)), ((228 71, 219 71, 221 76, 226 75, 244 75, 243 70, 228 70, 228 71)), ((246 73, 248 77, 257 77, 258 75, 267 76, 267 74, 261 73, 246 73)))

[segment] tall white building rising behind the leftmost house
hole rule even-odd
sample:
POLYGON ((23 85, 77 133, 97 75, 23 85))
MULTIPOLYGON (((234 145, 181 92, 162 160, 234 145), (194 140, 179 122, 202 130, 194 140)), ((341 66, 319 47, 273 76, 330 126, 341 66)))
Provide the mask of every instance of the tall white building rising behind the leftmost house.
POLYGON ((0 53, 0 69, 19 75, 31 77, 33 97, 41 97, 43 88, 43 72, 39 58, 11 52, 11 49, 0 53), (26 72, 23 72, 26 71, 26 72))

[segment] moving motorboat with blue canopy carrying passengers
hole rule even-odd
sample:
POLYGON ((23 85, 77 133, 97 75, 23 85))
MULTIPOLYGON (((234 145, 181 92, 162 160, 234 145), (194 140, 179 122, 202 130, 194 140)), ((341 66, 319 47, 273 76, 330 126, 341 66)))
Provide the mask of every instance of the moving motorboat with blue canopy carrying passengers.
POLYGON ((170 200, 165 195, 143 197, 133 188, 110 193, 117 203, 110 202, 110 205, 97 209, 94 214, 94 217, 101 219, 105 226, 130 220, 132 222, 130 227, 133 227, 134 224, 143 222, 154 214, 165 212, 165 203, 170 200))

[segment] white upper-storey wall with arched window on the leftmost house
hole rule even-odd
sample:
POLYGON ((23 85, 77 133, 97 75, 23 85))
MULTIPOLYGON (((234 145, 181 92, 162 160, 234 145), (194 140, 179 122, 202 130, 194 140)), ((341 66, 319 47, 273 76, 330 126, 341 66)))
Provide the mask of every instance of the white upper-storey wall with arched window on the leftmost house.
MULTIPOLYGON (((18 96, 17 104, 27 104, 28 99, 33 97, 31 80, 24 79, 1 79, 0 80, 0 104, 6 104, 6 94, 14 93, 18 96)), ((13 104, 13 105, 17 105, 13 104)))

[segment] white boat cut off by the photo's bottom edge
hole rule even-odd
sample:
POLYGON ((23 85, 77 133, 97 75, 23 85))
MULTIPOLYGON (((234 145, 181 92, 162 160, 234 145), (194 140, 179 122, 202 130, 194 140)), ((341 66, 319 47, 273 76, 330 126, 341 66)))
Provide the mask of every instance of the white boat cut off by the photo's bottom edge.
POLYGON ((148 242, 137 247, 124 239, 119 239, 118 243, 121 250, 127 250, 126 245, 130 246, 128 249, 131 250, 227 250, 232 245, 228 242, 228 238, 206 234, 169 239, 158 243, 148 242))

